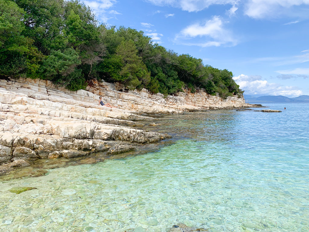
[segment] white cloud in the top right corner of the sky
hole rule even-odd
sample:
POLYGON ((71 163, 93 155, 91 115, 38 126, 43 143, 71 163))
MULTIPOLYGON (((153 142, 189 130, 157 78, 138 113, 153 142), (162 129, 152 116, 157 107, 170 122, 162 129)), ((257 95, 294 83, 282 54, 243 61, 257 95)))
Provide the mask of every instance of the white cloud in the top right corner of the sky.
POLYGON ((245 14, 252 18, 278 17, 302 4, 309 4, 309 0, 249 0, 245 4, 245 14))

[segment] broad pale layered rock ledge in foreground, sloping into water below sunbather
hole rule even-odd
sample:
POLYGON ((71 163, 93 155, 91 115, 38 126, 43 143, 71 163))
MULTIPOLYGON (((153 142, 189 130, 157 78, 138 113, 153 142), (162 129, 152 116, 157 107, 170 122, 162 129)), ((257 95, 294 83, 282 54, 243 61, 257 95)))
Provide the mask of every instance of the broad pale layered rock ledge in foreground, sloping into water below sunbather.
POLYGON ((0 174, 39 158, 74 158, 104 151, 115 154, 169 137, 143 131, 138 128, 144 125, 137 122, 140 120, 155 118, 0 89, 0 165, 4 164, 0 174))

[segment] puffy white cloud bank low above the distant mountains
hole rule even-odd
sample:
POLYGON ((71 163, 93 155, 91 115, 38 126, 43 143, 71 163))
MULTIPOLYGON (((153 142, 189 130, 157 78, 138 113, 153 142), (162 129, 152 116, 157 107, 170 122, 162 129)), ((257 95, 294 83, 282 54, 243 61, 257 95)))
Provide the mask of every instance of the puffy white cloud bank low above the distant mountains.
POLYGON ((245 94, 263 96, 263 95, 283 95, 287 97, 297 97, 303 94, 301 90, 293 86, 283 86, 278 83, 269 83, 258 75, 244 75, 233 77, 239 88, 245 90, 245 94))

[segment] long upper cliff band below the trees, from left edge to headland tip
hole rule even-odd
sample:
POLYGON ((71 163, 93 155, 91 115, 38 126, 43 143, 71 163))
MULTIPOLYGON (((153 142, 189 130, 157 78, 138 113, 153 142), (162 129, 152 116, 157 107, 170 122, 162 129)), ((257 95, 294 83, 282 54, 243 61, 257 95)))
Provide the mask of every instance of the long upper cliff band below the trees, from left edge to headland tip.
POLYGON ((203 91, 193 94, 184 90, 184 92, 178 92, 174 96, 169 95, 166 98, 163 94, 152 94, 146 89, 124 92, 124 86, 120 84, 98 81, 89 83, 87 91, 78 90, 76 92, 57 88, 50 81, 40 79, 0 80, 0 87, 9 91, 25 93, 28 96, 64 97, 94 104, 97 104, 99 96, 102 96, 104 102, 135 112, 181 113, 202 109, 242 107, 245 104, 243 97, 233 96, 222 99, 203 91))

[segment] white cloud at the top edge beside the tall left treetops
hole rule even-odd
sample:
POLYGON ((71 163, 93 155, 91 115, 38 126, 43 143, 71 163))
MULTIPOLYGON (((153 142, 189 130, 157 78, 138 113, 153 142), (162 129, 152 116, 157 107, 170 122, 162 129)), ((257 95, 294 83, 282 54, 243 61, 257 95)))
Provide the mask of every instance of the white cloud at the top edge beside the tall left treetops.
POLYGON ((116 0, 98 0, 98 1, 83 1, 86 6, 89 6, 91 10, 96 14, 101 23, 107 23, 108 17, 106 10, 116 4, 116 0))

